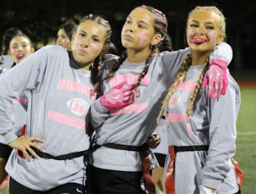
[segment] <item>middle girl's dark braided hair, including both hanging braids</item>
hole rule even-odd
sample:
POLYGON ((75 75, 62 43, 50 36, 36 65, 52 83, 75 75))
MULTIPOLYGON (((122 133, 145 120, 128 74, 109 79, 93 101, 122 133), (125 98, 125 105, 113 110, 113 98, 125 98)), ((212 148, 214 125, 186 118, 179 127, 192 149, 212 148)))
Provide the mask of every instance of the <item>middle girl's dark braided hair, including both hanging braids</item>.
MULTIPOLYGON (((160 11, 156 10, 152 6, 139 6, 136 8, 142 8, 150 11, 153 14, 154 17, 154 29, 155 34, 160 34, 162 37, 167 32, 167 19, 165 15, 160 11)), ((136 9, 135 8, 135 9, 136 9)), ((146 76, 148 72, 149 65, 151 64, 154 54, 156 52, 156 48, 160 45, 161 41, 157 45, 152 45, 151 53, 148 56, 148 59, 146 60, 146 66, 144 68, 144 71, 140 73, 140 76, 137 80, 136 87, 139 87, 140 81, 146 76)), ((109 70, 108 74, 104 77, 103 80, 100 80, 98 83, 96 83, 94 87, 94 91, 98 92, 100 91, 100 83, 102 83, 104 80, 109 80, 114 76, 114 73, 117 71, 117 69, 120 67, 120 65, 124 62, 124 60, 127 58, 128 53, 127 51, 124 51, 118 60, 116 60, 115 64, 113 64, 112 68, 109 70)))

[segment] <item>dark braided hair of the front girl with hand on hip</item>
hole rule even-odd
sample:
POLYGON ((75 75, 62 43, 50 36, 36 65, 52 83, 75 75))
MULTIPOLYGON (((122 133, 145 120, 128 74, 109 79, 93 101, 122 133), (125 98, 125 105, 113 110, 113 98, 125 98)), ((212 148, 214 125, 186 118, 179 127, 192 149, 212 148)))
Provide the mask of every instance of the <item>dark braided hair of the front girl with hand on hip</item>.
MULTIPOLYGON (((104 18, 102 18, 100 16, 89 14, 88 16, 81 18, 81 20, 77 24, 75 32, 77 32, 78 26, 82 22, 85 22, 85 21, 95 21, 97 24, 104 26, 104 28, 106 29, 106 38, 104 41, 104 45, 110 44, 110 37, 112 34, 112 29, 111 29, 111 26, 109 25, 108 21, 104 20, 104 18)), ((93 60, 93 66, 91 67, 91 75, 92 75, 93 84, 96 84, 97 82, 100 81, 99 67, 100 67, 100 61, 102 60, 101 57, 103 57, 103 53, 100 53, 100 55, 97 56, 95 60, 93 60)))

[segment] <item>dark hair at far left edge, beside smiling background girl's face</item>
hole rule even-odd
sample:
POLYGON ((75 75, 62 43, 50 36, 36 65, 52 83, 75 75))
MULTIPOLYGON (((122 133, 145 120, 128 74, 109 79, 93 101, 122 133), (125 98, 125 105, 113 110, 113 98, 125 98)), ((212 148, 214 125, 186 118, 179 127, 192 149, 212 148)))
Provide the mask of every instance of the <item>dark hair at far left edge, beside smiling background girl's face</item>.
POLYGON ((10 46, 10 41, 13 39, 15 35, 22 35, 22 30, 17 28, 7 29, 6 32, 2 36, 2 55, 8 54, 8 49, 10 46))

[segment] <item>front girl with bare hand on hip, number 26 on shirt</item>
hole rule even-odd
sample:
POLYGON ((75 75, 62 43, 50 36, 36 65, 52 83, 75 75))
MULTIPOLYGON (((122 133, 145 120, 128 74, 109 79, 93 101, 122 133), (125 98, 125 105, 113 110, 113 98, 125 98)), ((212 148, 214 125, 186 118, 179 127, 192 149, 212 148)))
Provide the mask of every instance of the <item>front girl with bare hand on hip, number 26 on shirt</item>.
POLYGON ((6 165, 10 194, 85 193, 89 107, 111 33, 108 21, 89 14, 73 33, 71 51, 45 46, 1 76, 0 136, 16 149, 6 165), (18 137, 12 102, 25 92, 26 133, 18 137))

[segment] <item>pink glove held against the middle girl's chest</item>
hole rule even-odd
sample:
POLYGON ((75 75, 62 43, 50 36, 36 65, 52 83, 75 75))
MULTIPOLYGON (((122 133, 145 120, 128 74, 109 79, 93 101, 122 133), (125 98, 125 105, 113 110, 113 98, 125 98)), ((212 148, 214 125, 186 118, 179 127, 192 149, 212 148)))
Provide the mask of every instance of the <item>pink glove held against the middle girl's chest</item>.
POLYGON ((134 91, 136 85, 131 85, 128 87, 123 87, 126 82, 119 83, 116 87, 113 87, 108 94, 103 95, 100 99, 100 104, 107 108, 108 110, 112 110, 115 108, 126 107, 133 103, 132 95, 136 97, 140 96, 139 88, 134 91))

